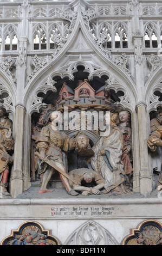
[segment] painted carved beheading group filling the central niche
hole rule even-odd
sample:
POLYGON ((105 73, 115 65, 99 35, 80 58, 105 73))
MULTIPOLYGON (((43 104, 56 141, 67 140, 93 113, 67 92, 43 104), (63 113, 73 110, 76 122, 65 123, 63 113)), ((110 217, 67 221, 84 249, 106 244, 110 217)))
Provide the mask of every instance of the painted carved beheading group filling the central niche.
MULTIPOLYGON (((84 82, 82 84, 84 87, 84 82)), ((89 97, 90 89, 80 88, 79 92, 79 97, 83 99, 89 97)), ((107 96, 105 98, 108 99, 107 96)), ((60 100, 66 100, 66 92, 62 92, 60 100)), ((79 193, 85 196, 101 193, 131 194, 133 167, 130 154, 130 113, 111 113, 110 132, 105 131, 105 136, 100 137, 92 147, 86 131, 76 131, 73 137, 60 131, 55 122, 58 119, 55 113, 53 105, 42 108, 37 124, 32 129, 31 168, 33 179, 36 180, 37 174, 41 180, 38 193, 53 191, 48 190, 47 186, 51 176, 57 171, 67 193, 72 196, 79 193), (74 150, 81 160, 80 168, 69 172, 62 153, 70 150, 74 150)), ((107 122, 105 115, 105 124, 107 122)))

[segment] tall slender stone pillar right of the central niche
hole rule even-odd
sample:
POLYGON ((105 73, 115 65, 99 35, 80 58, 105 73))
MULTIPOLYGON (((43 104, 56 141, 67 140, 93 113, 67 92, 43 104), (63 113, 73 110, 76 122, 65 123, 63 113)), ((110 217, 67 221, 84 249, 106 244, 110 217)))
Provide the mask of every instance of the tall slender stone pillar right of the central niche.
MULTIPOLYGON (((133 12, 135 14, 136 24, 133 25, 132 45, 134 46, 134 71, 135 81, 138 91, 138 100, 136 104, 136 122, 137 126, 134 130, 134 139, 136 141, 136 162, 134 170, 134 184, 136 192, 140 192, 147 196, 152 191, 152 175, 150 170, 150 158, 148 156, 147 139, 148 139, 148 120, 145 103, 145 77, 144 77, 144 56, 142 53, 143 36, 139 30, 138 2, 133 2, 133 12), (137 164, 138 163, 138 164, 137 164), (139 186, 139 188, 138 188, 139 186), (138 191, 139 190, 139 191, 138 191)), ((134 21, 134 20, 133 20, 134 21)))

